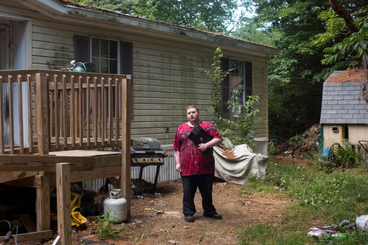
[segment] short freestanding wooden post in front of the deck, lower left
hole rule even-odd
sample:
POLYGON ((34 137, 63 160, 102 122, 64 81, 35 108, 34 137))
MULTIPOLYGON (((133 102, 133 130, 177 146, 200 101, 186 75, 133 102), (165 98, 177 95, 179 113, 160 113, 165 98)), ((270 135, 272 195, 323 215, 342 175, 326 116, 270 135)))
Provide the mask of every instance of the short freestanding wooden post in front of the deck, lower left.
POLYGON ((57 233, 61 245, 72 244, 72 221, 70 207, 70 166, 69 163, 56 164, 57 191, 57 233))

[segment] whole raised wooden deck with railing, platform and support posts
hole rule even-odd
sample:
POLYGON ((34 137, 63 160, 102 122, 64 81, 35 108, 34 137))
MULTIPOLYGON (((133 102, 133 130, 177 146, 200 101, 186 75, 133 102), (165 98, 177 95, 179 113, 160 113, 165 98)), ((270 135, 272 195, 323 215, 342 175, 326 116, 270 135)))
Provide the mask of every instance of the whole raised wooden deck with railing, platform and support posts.
POLYGON ((0 71, 0 183, 36 188, 37 232, 25 239, 52 238, 56 187, 59 241, 71 244, 71 182, 111 179, 130 216, 130 89, 130 75, 0 71))

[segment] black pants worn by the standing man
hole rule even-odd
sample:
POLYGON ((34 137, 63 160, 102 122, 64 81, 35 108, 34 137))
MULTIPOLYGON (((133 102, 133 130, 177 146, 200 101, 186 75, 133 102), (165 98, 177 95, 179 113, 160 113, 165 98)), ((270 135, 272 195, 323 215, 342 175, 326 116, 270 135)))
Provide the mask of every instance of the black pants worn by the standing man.
POLYGON ((194 196, 197 187, 202 196, 203 213, 212 216, 216 209, 212 204, 212 184, 214 173, 182 176, 183 180, 183 213, 184 215, 194 215, 196 212, 194 205, 194 196))

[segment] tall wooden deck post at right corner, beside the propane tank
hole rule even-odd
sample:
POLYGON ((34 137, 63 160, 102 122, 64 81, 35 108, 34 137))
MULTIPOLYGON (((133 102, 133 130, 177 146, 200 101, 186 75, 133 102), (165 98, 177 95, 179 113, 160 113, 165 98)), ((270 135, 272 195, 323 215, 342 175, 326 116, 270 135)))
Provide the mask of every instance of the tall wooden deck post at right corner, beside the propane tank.
POLYGON ((121 103, 121 177, 120 189, 127 200, 127 217, 131 217, 131 75, 122 81, 121 103))

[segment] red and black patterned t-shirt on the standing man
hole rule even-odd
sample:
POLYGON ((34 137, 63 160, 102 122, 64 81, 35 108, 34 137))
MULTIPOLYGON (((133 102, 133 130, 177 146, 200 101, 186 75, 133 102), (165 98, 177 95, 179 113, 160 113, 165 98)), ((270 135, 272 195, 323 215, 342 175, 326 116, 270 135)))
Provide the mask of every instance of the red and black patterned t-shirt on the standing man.
MULTIPOLYGON (((199 125, 213 138, 222 139, 215 126, 209 122, 200 122, 199 125)), ((180 151, 180 168, 182 175, 209 174, 214 172, 213 147, 202 152, 188 138, 193 127, 183 123, 176 131, 173 148, 180 151)))

